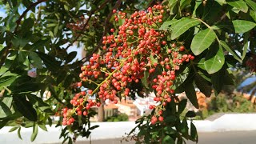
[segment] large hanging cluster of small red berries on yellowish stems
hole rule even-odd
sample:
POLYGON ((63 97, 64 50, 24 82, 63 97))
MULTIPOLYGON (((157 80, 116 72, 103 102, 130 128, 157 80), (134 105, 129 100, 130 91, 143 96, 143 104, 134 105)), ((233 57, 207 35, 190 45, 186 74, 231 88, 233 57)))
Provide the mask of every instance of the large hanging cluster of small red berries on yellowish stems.
MULTIPOLYGON (((155 109, 151 122, 163 121, 162 111, 174 94, 171 87, 175 71, 179 70, 183 62, 194 59, 190 54, 182 54, 186 50, 182 43, 176 46, 174 42, 166 42, 166 31, 158 30, 165 12, 163 6, 155 5, 146 11, 136 11, 130 18, 126 18, 126 13, 113 10, 113 13, 117 13, 114 20, 124 21, 122 26, 118 26, 118 30, 110 29, 110 34, 102 38, 102 50, 106 51, 104 55, 93 54, 79 74, 82 82, 91 82, 97 87, 94 91, 75 94, 70 101, 74 109, 62 110, 65 118, 63 124, 74 122, 70 120, 72 114, 82 115, 90 106, 100 105, 88 99, 93 94, 97 96, 97 101, 102 98, 114 103, 118 102, 118 96, 129 96, 130 83, 139 82, 146 73, 150 74, 146 81, 156 92, 154 101, 157 105, 150 106, 150 109, 155 109), (157 67, 162 74, 158 74, 157 67), (155 75, 157 78, 153 79, 155 75), (104 81, 97 83, 98 78, 104 78, 104 81)), ((82 82, 78 82, 79 87, 82 82)))

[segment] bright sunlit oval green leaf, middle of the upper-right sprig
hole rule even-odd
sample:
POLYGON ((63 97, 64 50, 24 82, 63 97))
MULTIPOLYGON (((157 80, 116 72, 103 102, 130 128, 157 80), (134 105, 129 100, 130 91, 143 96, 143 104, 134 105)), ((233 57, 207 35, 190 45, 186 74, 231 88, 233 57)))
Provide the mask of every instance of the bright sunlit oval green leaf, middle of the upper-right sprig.
POLYGON ((216 38, 216 34, 214 30, 210 30, 209 28, 206 30, 200 31, 196 34, 191 43, 191 50, 195 55, 201 54, 204 50, 206 50, 216 38))

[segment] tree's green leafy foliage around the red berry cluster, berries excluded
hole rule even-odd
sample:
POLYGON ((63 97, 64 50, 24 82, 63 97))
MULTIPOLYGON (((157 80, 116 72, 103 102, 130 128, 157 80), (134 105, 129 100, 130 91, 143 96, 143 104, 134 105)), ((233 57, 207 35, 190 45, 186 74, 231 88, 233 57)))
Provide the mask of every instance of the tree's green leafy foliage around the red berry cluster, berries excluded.
MULTIPOLYGON (((6 0, 0 3, 7 13, 6 18, 0 18, 0 127, 14 126, 11 131, 18 130, 20 136, 21 127, 33 126, 33 141, 38 126, 46 130, 46 123, 51 124, 50 115, 60 114, 63 107, 73 107, 70 100, 80 91, 74 83, 80 82, 78 76, 83 63, 88 62, 93 53, 106 54, 102 47, 103 36, 110 35, 112 28, 118 30, 124 22, 122 18, 115 22, 113 10, 122 10, 129 18, 134 11, 147 10, 156 3, 162 3, 166 10, 156 29, 165 34, 166 46, 162 49, 172 47, 176 50, 184 46, 187 54, 194 54, 194 58, 175 74, 176 80, 171 87, 175 93, 185 91, 194 106, 198 106, 194 86, 206 96, 210 96, 213 87, 218 95, 224 85, 234 83, 230 68, 255 55, 256 3, 252 0, 6 0), (82 60, 74 60, 77 52, 67 52, 74 42, 86 49, 86 57, 82 60), (28 76, 32 68, 36 71, 28 76), (48 99, 43 98, 46 90, 51 93, 48 99)), ((151 58, 151 61, 160 66, 160 59, 151 58)), ((160 73, 162 70, 154 76, 160 73)), ((148 77, 145 72, 138 83, 152 91, 148 77)), ((96 88, 89 82, 83 84, 91 90, 96 88)), ((170 97, 173 101, 166 106, 164 122, 150 124, 152 115, 137 121, 138 141, 182 143, 183 138, 198 140, 193 123, 190 123, 189 134, 187 118, 182 122, 179 118, 186 102, 178 102, 172 94, 170 97)), ((75 122, 62 126, 61 136, 71 142, 70 130, 74 140, 79 135, 88 138, 90 130, 97 127, 90 127, 89 118, 94 114, 92 110, 87 116, 74 114, 75 122)), ((188 112, 186 116, 194 114, 188 112)), ((62 118, 58 126, 61 122, 62 118)))

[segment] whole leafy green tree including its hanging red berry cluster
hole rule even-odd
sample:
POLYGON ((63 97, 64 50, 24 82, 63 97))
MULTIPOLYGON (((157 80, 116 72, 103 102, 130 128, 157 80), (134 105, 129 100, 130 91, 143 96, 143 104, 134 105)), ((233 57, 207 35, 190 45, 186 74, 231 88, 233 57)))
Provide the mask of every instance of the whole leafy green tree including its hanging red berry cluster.
POLYGON ((105 99, 117 102, 116 97, 140 91, 154 91, 159 105, 138 119, 138 142, 198 141, 193 122, 190 130, 187 123, 194 113, 180 118, 186 101, 175 94, 185 91, 198 107, 195 86, 210 97, 212 88, 218 95, 234 84, 234 67, 255 71, 252 0, 4 0, 0 5, 7 14, 0 18, 0 128, 14 126, 10 131, 18 130, 20 137, 22 127, 33 126, 31 141, 54 114, 64 116, 57 126, 68 125, 60 138, 88 138, 97 127, 90 127, 91 106, 102 109, 105 99), (67 52, 74 42, 86 50, 82 60, 67 52), (94 94, 96 101, 87 100, 94 94))

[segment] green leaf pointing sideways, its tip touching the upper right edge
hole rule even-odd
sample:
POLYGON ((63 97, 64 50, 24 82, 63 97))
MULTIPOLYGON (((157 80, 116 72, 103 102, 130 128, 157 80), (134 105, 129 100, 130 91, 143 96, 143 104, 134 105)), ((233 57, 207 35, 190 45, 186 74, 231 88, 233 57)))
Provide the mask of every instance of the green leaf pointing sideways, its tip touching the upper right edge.
POLYGON ((254 26, 256 26, 256 24, 254 22, 245 21, 245 20, 234 20, 232 22, 233 22, 233 26, 234 26, 234 31, 237 34, 245 33, 247 31, 253 29, 254 26))

